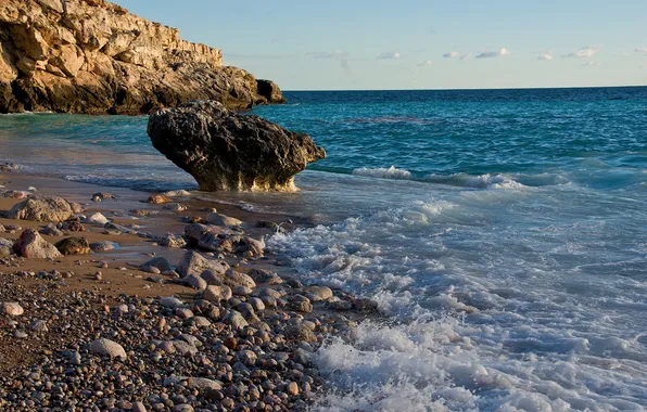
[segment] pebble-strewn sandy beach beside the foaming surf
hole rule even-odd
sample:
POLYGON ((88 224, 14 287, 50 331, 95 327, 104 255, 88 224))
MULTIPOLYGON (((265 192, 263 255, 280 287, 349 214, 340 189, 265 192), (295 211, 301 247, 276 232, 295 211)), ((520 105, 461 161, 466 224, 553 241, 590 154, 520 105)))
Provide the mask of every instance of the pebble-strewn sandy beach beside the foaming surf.
MULTIPOLYGON (((201 299, 200 291, 177 284, 173 275, 142 270, 141 265, 151 257, 165 258, 175 267, 188 250, 194 250, 164 247, 156 239, 168 233, 182 234, 187 220, 205 218, 213 203, 174 197, 173 204, 180 203, 186 207, 174 211, 165 205, 142 203, 151 193, 22 175, 20 171, 1 172, 0 185, 3 186, 0 186, 0 194, 28 192, 35 186, 36 191, 31 193, 36 195, 55 195, 78 202, 87 216, 101 213, 114 223, 140 231, 139 235, 116 234, 86 222, 84 232, 42 237, 55 243, 65 237, 84 236, 89 243, 114 242, 118 247, 51 260, 0 256, 0 301, 17 301, 24 309, 20 316, 2 316, 0 371, 9 376, 25 376, 29 388, 26 390, 24 384, 12 378, 0 379, 0 394, 5 399, 0 403, 3 408, 68 408, 75 404, 102 409, 112 405, 115 410, 128 410, 124 407, 131 405, 136 410, 136 402, 142 402, 147 410, 158 410, 162 405, 170 409, 178 404, 198 410, 214 404, 221 408, 216 410, 236 407, 306 409, 326 391, 325 379, 313 363, 317 348, 329 337, 351 333, 357 321, 376 313, 368 299, 355 299, 339 289, 312 287, 315 283, 303 285, 293 269, 279 261, 271 252, 256 258, 221 254, 225 255, 221 260, 236 272, 253 274, 250 278, 255 280, 255 287, 231 287, 233 296, 218 301, 201 299), (97 192, 109 192, 116 199, 92 202, 97 192), (137 217, 130 213, 134 209, 153 210, 153 214, 137 217), (142 232, 149 234, 148 239, 142 232), (163 298, 169 300, 170 297, 182 302, 169 307, 163 298), (84 304, 75 306, 79 300, 84 304), (74 316, 71 318, 71 314, 74 316), (162 323, 165 325, 160 326, 162 323), (90 344, 100 337, 123 344, 126 360, 92 353, 90 344), (180 340, 182 343, 178 344, 180 340), (76 355, 71 358, 71 352, 76 355), (75 368, 78 356, 81 360, 76 364, 77 369, 91 366, 103 373, 111 369, 130 369, 131 375, 139 374, 138 389, 132 390, 132 385, 117 385, 114 390, 97 390, 91 387, 92 381, 84 381, 87 374, 80 373, 75 375, 80 379, 75 391, 63 398, 53 396, 51 385, 47 383, 55 388, 55 382, 66 381, 65 373, 56 371, 72 373, 71 368, 75 368), (166 366, 160 366, 160 362, 166 366), (160 368, 166 368, 167 376, 152 372, 160 368), (40 379, 30 378, 35 374, 40 379), (172 379, 172 375, 179 374, 185 376, 179 381, 172 379), (187 376, 190 377, 187 379, 187 376), (168 383, 168 379, 173 382, 168 383), (192 379, 206 386, 196 387, 192 379), (243 382, 248 383, 246 389, 241 386, 243 382)), ((0 210, 9 210, 22 201, 0 197, 0 210)), ((217 209, 242 220, 245 234, 255 239, 275 231, 256 228, 256 221, 290 218, 248 211, 227 204, 218 204, 217 209)), ((2 217, 0 224, 10 229, 10 233, 0 233, 0 237, 14 241, 25 229, 39 230, 46 223, 2 217), (11 230, 12 226, 21 228, 11 230)), ((300 226, 299 222, 294 224, 300 226)), ((210 260, 218 255, 195 252, 210 260)), ((99 378, 99 375, 94 377, 99 378)))

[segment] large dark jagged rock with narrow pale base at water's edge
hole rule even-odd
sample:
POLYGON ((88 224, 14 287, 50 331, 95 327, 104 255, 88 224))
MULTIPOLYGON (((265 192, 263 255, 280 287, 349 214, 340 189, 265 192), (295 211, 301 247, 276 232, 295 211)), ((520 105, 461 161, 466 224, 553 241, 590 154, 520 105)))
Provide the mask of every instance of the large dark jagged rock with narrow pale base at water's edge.
POLYGON ((326 157, 309 136, 215 101, 157 111, 148 131, 155 149, 210 192, 292 191, 294 175, 326 157))

